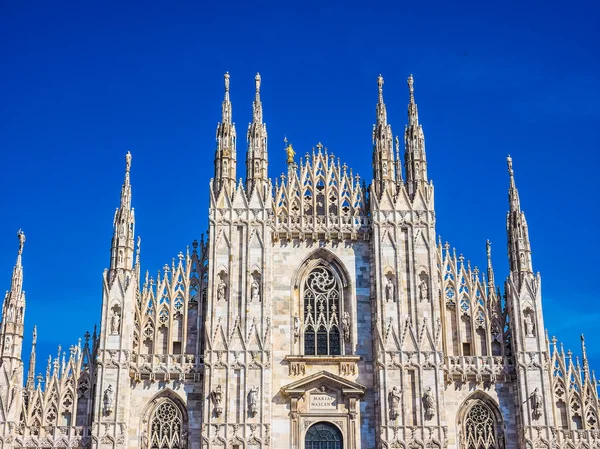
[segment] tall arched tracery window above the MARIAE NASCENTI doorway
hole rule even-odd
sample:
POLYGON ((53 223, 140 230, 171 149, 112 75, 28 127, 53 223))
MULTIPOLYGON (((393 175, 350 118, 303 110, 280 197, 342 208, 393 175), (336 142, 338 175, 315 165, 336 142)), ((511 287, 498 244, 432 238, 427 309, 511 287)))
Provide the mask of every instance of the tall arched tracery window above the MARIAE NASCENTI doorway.
POLYGON ((303 286, 304 354, 340 355, 340 304, 338 278, 324 266, 315 267, 303 286))

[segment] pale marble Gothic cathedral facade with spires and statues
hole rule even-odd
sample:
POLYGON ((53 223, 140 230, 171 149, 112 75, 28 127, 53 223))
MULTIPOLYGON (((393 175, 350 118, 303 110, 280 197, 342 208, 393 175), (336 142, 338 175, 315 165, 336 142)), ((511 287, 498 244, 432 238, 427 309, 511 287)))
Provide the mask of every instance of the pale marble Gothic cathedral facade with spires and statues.
POLYGON ((508 158, 510 275, 436 234, 413 78, 403 160, 378 78, 369 186, 322 145, 268 175, 260 76, 246 180, 225 75, 206 237, 142 274, 131 155, 100 327, 29 369, 19 232, 0 325, 0 449, 599 448, 582 363, 544 328, 508 158))

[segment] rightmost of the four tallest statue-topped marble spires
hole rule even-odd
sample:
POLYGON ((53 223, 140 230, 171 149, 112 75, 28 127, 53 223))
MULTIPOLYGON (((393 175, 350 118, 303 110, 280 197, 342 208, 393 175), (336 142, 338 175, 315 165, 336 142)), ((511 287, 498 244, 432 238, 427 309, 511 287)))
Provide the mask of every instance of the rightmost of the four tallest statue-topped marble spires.
POLYGON ((425 135, 419 124, 419 113, 415 103, 414 78, 408 77, 408 124, 404 128, 404 165, 408 192, 412 196, 421 184, 427 183, 427 159, 425 157, 425 135))

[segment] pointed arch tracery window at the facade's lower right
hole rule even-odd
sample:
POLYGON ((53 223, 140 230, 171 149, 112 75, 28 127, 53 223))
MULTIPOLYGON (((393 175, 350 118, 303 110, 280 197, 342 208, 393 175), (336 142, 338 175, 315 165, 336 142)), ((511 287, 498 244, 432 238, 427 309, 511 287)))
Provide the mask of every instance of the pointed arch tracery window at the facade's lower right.
POLYGON ((469 408, 463 426, 463 449, 502 449, 496 413, 484 402, 477 400, 469 408))

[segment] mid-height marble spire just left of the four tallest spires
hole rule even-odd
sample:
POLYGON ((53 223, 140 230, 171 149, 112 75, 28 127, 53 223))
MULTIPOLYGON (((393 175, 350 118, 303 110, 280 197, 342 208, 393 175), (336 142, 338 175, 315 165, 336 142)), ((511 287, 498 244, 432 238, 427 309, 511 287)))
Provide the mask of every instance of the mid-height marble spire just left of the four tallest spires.
MULTIPOLYGON (((133 267, 133 236, 135 213, 131 207, 131 153, 125 155, 125 180, 121 189, 120 206, 115 212, 113 222, 113 239, 111 245, 110 270, 114 274, 117 269, 131 270, 133 267)), ((114 276, 111 275, 110 279, 114 276)))

